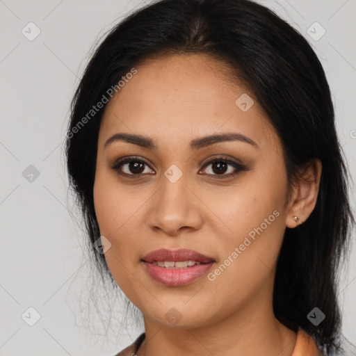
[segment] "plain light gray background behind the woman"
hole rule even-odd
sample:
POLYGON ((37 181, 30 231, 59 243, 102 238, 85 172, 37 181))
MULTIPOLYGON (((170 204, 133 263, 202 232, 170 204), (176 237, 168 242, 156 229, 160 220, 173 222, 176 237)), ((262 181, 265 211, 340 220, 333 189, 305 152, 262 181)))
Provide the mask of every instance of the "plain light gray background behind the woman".
MULTIPOLYGON (((356 0, 260 2, 305 35, 321 59, 332 89, 339 137, 355 179, 356 0), (319 40, 307 34, 314 22, 326 30, 319 40)), ((119 341, 94 337, 76 324, 78 311, 68 306, 71 282, 75 289, 88 273, 83 271, 87 266, 81 250, 86 236, 67 196, 63 140, 70 99, 92 45, 143 3, 0 0, 0 355, 110 356, 142 330, 120 332, 119 341), (33 41, 22 34, 29 22, 41 31, 33 41), (32 183, 22 175, 29 165, 40 172, 32 183), (33 326, 22 319, 29 307, 40 314, 33 326), (103 342, 93 345, 94 339, 103 342)), ((354 245, 339 291, 343 332, 354 343, 355 254, 354 245)))

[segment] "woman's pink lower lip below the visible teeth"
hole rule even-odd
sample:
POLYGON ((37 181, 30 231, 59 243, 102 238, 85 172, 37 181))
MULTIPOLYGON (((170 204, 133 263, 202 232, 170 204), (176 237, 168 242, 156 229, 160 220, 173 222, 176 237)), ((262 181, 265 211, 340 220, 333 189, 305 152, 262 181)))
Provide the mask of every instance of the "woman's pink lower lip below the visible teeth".
POLYGON ((196 264, 195 266, 187 268, 165 268, 145 261, 143 261, 143 264, 145 264, 147 273, 154 278, 154 280, 166 286, 184 286, 207 274, 214 263, 196 264))

